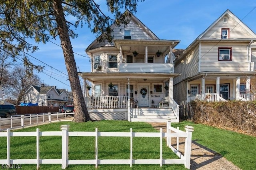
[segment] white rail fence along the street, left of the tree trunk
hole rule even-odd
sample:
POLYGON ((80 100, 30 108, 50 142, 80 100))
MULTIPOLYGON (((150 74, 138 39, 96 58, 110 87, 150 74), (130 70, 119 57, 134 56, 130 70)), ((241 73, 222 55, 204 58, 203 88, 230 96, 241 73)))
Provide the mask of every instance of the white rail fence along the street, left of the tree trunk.
POLYGON ((18 115, 11 116, 10 118, 0 118, 0 131, 5 131, 8 128, 17 129, 31 127, 33 125, 44 125, 45 123, 51 123, 55 121, 68 121, 67 115, 74 115, 72 113, 42 113, 34 115, 18 115), (54 117, 54 120, 52 119, 54 117), (8 128, 5 128, 8 125, 8 128))

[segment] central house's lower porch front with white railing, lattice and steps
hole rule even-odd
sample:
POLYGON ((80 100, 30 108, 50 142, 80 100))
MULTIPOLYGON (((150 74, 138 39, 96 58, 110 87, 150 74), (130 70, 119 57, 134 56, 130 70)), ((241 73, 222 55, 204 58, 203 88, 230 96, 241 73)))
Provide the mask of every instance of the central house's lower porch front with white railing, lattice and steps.
POLYGON ((158 103, 158 107, 138 107, 138 104, 134 107, 128 96, 86 97, 85 101, 94 120, 165 122, 167 118, 172 118, 172 122, 179 122, 179 105, 169 97, 158 103))

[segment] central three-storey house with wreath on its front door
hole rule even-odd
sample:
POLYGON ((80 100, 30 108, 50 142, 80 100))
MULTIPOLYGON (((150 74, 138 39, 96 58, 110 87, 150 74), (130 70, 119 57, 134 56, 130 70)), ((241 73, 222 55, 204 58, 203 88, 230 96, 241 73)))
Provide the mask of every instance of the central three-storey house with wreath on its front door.
POLYGON ((84 80, 87 108, 98 109, 95 112, 112 109, 106 111, 111 112, 110 119, 116 119, 113 114, 119 112, 120 117, 129 121, 166 122, 161 118, 172 117, 167 113, 174 111, 176 117, 173 118, 178 121, 172 84, 179 74, 174 73, 172 49, 180 41, 160 40, 132 14, 128 26, 113 24, 111 28, 114 30, 112 43, 100 43, 96 39, 86 49, 92 70, 79 75, 84 80), (87 96, 87 81, 91 82, 92 96, 87 96))

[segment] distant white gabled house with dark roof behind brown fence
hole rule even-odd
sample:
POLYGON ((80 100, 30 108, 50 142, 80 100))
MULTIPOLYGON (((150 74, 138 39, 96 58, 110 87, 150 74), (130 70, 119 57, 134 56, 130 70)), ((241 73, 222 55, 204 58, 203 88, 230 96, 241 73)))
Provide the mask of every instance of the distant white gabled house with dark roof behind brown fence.
POLYGON ((66 89, 56 89, 56 86, 45 87, 42 84, 41 87, 38 87, 32 85, 25 94, 25 103, 38 103, 38 106, 73 105, 70 93, 66 89))

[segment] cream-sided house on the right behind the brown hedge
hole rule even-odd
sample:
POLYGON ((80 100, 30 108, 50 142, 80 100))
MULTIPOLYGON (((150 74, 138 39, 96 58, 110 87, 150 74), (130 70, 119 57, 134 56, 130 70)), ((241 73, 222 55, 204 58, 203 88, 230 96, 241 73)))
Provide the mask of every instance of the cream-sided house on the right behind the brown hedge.
POLYGON ((174 99, 180 104, 254 100, 256 34, 227 10, 174 61, 174 99))

